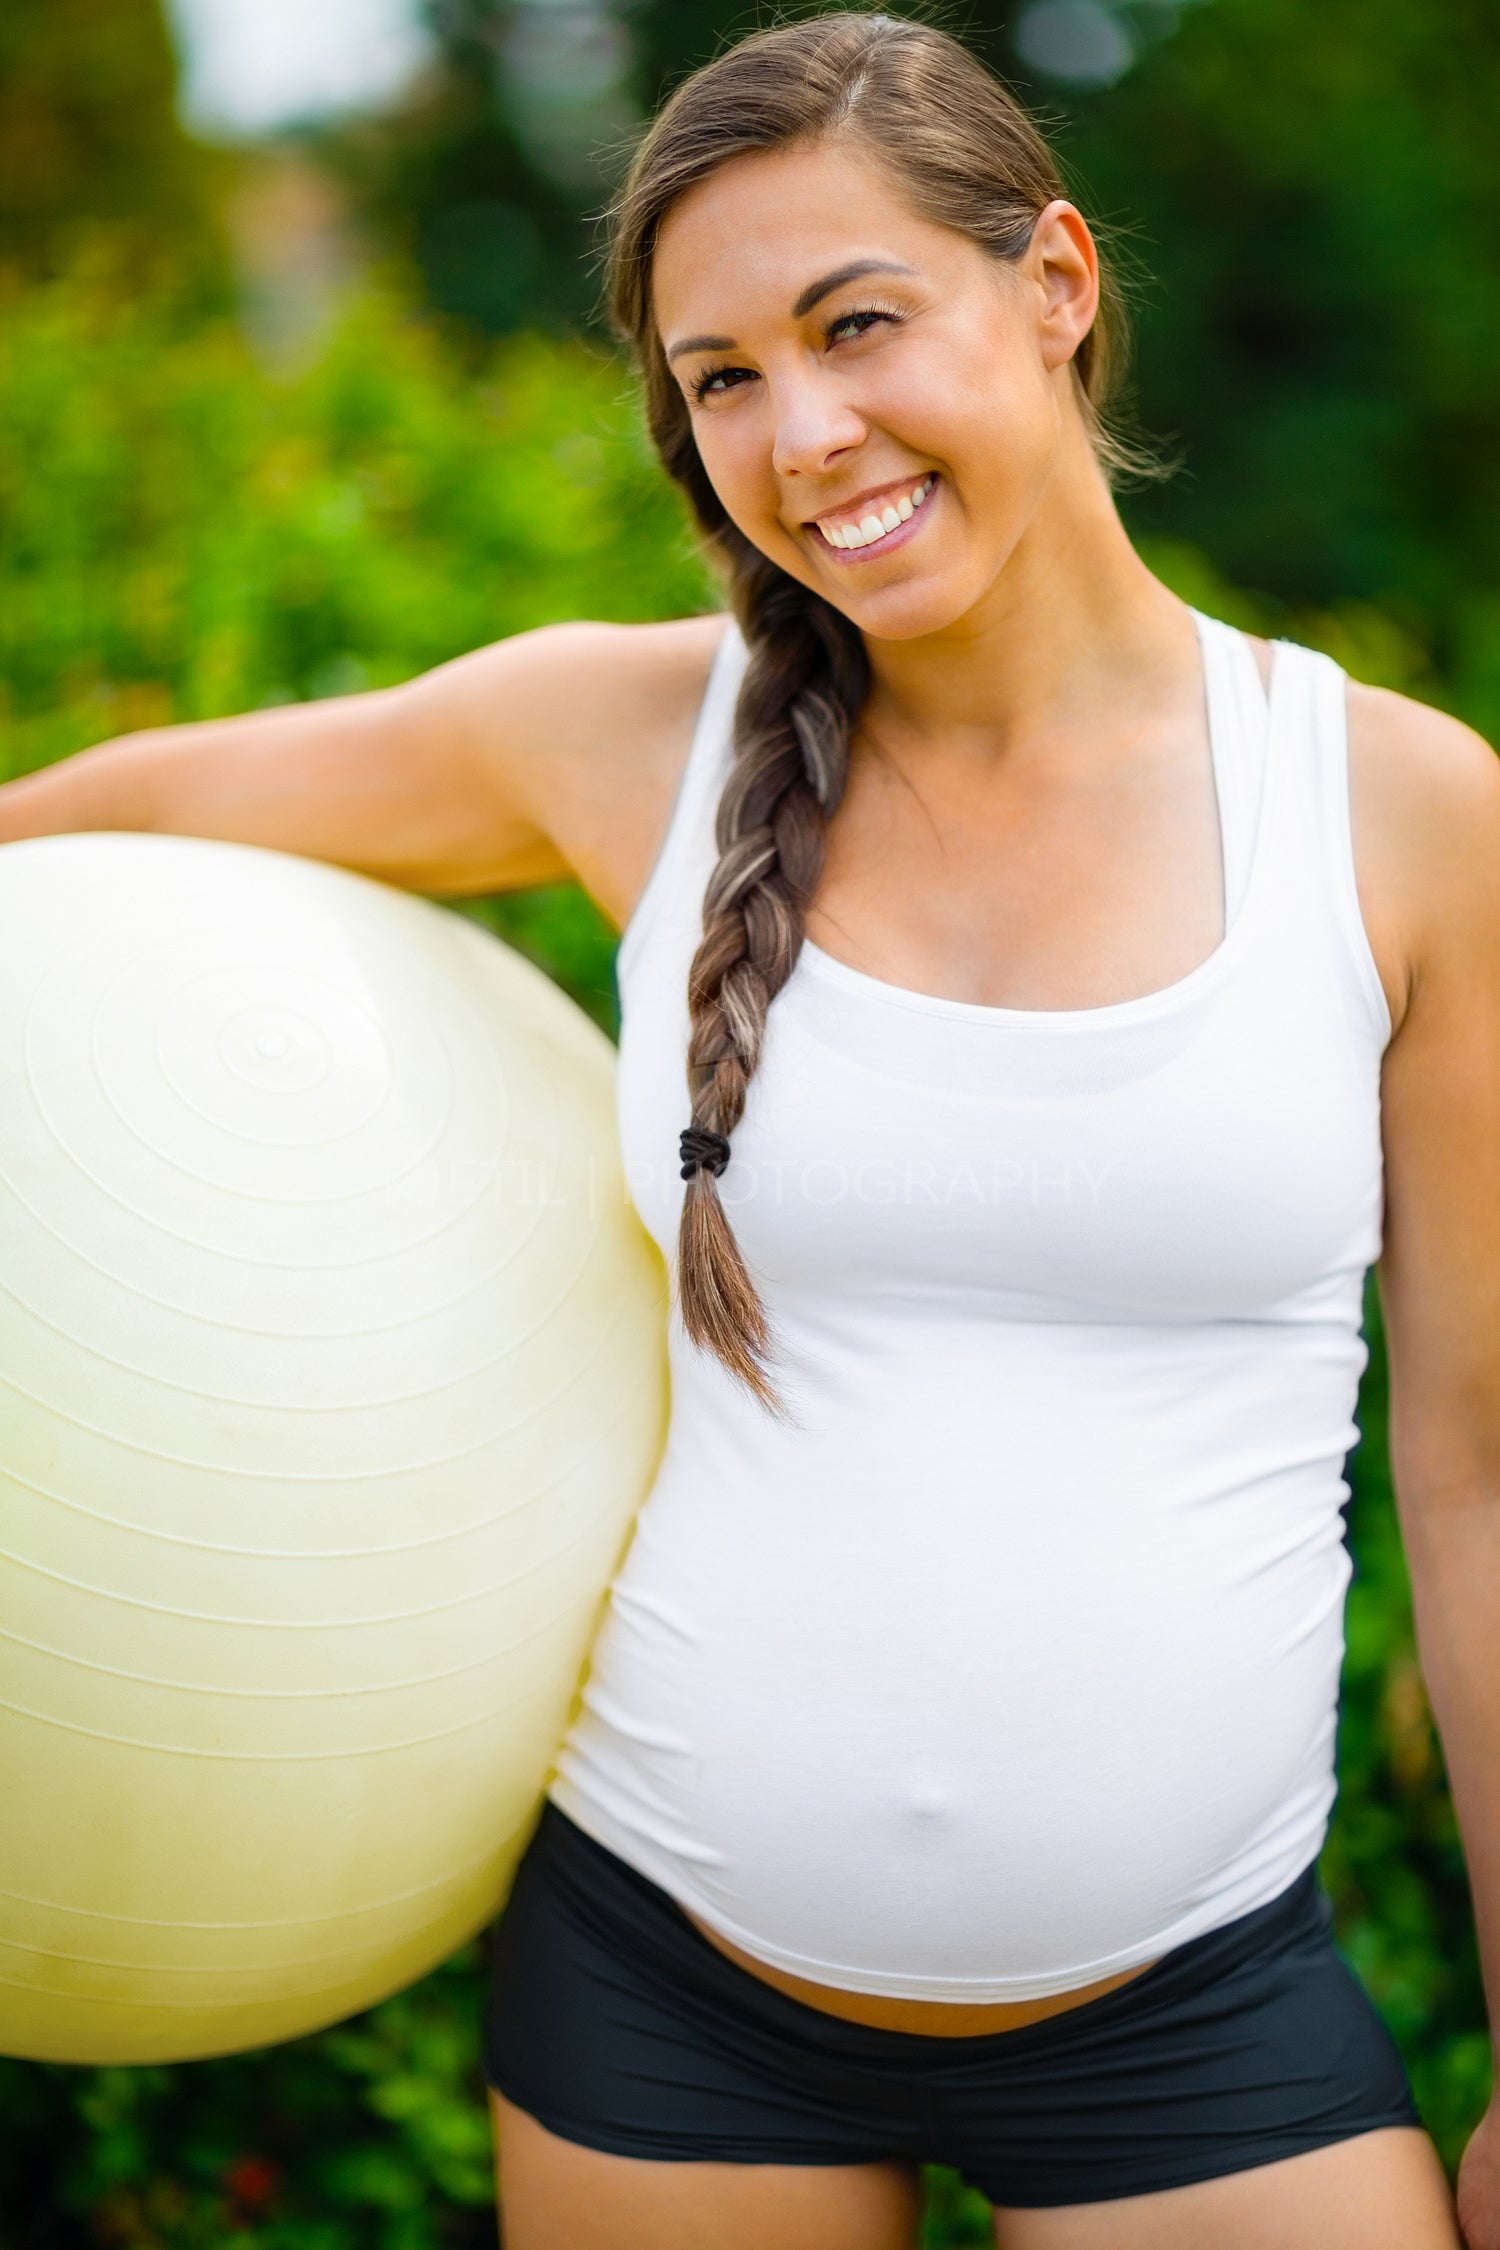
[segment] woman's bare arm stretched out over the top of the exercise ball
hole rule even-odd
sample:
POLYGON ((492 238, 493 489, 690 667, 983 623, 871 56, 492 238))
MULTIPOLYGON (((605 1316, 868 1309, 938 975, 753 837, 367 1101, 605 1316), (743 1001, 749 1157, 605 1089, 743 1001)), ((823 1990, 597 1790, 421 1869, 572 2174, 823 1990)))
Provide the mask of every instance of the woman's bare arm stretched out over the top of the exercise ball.
POLYGON ((405 686, 119 736, 0 788, 0 844, 218 837, 432 896, 578 875, 623 922, 722 623, 549 626, 405 686))

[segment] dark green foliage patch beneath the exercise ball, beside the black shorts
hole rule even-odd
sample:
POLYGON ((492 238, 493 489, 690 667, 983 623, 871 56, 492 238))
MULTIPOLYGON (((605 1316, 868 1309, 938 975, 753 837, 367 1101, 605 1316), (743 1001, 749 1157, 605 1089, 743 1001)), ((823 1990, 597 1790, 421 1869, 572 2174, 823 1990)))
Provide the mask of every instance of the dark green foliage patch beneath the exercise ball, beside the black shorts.
POLYGON ((0 2061, 0 2246, 495 2250, 479 1960, 263 2054, 0 2061))

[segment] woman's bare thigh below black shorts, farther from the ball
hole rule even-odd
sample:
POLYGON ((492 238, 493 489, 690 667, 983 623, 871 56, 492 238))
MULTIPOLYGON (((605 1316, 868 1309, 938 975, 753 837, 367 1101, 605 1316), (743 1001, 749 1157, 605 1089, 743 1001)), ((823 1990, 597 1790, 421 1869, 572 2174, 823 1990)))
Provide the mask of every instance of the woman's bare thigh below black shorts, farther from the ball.
POLYGON ((1383 2128, 1194 2187, 996 2212, 999 2250, 1460 2250, 1426 2133, 1383 2128))

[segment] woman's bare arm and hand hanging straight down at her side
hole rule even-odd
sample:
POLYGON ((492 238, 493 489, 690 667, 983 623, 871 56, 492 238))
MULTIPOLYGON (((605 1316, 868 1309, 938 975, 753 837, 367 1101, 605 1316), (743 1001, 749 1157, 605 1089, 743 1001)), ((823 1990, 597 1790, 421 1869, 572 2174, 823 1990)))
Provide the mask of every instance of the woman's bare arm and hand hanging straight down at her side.
MULTIPOLYGON (((1392 781, 1410 963, 1381 1080, 1392 1469, 1500 2023, 1500 760, 1453 720, 1383 702, 1370 747, 1392 781)), ((1500 2110, 1460 2212, 1471 2250, 1500 2250, 1500 2110)))

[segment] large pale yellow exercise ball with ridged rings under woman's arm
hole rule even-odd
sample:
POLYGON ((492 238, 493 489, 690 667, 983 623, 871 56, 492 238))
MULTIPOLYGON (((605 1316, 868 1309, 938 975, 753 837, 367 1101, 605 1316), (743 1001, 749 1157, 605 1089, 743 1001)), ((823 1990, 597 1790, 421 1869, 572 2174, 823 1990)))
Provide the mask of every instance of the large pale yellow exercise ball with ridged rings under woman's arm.
POLYGON ((0 961, 0 2052, 259 2048, 535 1818, 666 1422, 614 1058, 238 844, 9 844, 0 961))

